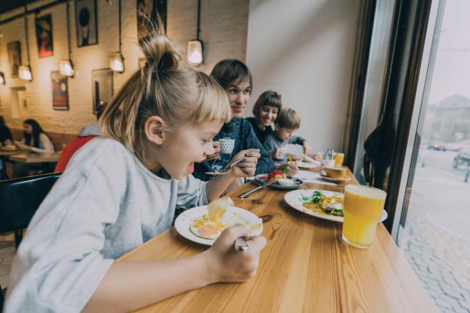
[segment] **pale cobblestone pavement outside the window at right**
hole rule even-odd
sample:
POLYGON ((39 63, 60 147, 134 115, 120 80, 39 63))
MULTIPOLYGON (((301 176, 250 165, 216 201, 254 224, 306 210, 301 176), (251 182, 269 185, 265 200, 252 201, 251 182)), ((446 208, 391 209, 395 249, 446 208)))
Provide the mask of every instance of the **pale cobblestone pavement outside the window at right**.
POLYGON ((470 183, 432 167, 415 173, 400 247, 442 312, 470 312, 470 183))

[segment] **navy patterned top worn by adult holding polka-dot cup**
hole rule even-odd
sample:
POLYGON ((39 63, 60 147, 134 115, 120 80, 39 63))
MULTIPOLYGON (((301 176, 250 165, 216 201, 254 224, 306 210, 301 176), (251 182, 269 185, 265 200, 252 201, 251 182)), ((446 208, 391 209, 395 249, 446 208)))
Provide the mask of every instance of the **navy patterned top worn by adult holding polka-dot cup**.
POLYGON ((232 138, 235 140, 234 150, 231 155, 222 155, 223 158, 216 160, 209 160, 202 163, 194 164, 194 173, 193 176, 199 178, 200 180, 211 180, 214 176, 206 175, 207 171, 214 171, 220 169, 220 167, 225 167, 229 160, 232 160, 236 153, 245 149, 259 149, 261 153, 261 158, 259 158, 258 163, 256 164, 256 173, 255 175, 261 173, 269 173, 274 169, 274 163, 272 162, 270 156, 267 154, 264 146, 259 142, 256 137, 252 125, 250 122, 243 118, 234 118, 229 123, 225 123, 220 129, 220 132, 215 135, 214 140, 220 140, 222 138, 232 138))

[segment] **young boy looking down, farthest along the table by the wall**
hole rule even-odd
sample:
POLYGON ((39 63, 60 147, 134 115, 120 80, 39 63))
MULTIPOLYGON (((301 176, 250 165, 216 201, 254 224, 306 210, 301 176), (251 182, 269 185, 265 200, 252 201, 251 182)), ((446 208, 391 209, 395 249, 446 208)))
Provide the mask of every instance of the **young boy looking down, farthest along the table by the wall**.
POLYGON ((293 136, 300 127, 300 116, 292 108, 282 108, 274 123, 274 134, 267 135, 264 146, 275 162, 286 162, 288 160, 287 145, 301 144, 303 154, 310 150, 307 140, 293 136))

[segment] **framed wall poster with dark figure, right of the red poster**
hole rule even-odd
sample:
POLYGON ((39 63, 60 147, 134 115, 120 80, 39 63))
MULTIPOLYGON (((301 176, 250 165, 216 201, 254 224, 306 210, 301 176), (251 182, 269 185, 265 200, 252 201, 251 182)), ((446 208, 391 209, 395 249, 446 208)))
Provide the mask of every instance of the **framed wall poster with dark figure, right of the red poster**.
POLYGON ((75 0, 75 28, 77 46, 84 47, 98 43, 96 0, 75 0))

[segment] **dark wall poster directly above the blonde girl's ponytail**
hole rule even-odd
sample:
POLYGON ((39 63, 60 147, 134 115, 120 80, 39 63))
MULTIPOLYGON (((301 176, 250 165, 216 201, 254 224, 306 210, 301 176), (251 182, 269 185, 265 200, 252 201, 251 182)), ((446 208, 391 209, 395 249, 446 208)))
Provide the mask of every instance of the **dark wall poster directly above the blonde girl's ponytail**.
POLYGON ((167 0, 136 0, 137 1, 137 37, 141 39, 149 35, 151 23, 158 17, 164 30, 167 28, 167 0))

